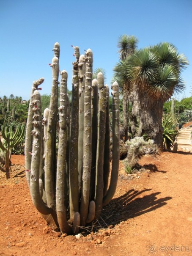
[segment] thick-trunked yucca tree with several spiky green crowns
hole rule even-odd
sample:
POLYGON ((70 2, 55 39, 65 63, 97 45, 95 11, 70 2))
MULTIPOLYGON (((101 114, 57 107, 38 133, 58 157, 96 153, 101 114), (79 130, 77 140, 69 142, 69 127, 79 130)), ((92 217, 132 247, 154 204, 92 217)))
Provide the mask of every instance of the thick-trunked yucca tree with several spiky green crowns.
POLYGON ((187 64, 187 58, 178 54, 173 44, 165 42, 138 50, 126 63, 116 66, 116 73, 120 75, 122 71, 123 79, 133 84, 129 94, 133 98, 132 112, 140 118, 137 135, 145 132, 154 139, 159 150, 163 148, 163 104, 173 93, 183 91, 180 74, 187 64))

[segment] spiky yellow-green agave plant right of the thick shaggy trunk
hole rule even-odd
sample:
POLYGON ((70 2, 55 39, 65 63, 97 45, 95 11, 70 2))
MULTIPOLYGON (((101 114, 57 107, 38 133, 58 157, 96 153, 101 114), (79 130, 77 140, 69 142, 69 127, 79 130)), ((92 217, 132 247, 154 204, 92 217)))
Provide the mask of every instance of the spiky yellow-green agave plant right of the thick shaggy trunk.
POLYGON ((172 115, 164 116, 162 118, 163 127, 163 149, 170 149, 174 146, 174 141, 178 135, 178 129, 176 129, 175 121, 172 115))

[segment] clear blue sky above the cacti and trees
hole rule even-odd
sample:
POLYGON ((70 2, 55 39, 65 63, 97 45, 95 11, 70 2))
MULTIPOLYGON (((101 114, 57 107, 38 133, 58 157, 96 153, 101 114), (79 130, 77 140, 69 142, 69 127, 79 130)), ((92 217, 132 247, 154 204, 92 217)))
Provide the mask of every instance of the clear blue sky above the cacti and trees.
POLYGON ((74 50, 91 48, 93 69, 106 71, 110 85, 118 62, 118 37, 134 35, 138 47, 173 43, 189 60, 182 72, 192 95, 192 0, 0 0, 0 96, 30 98, 34 80, 44 77, 41 94, 52 85, 52 48, 60 43, 60 70, 71 89, 74 50))

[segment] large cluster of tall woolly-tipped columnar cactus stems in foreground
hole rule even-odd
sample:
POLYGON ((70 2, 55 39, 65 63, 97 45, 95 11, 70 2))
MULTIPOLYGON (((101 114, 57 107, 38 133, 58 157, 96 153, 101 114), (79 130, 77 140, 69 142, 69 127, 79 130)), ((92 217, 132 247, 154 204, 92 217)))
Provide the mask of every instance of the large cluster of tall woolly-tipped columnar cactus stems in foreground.
POLYGON ((115 193, 119 162, 118 84, 112 85, 110 175, 109 88, 104 85, 102 73, 92 81, 92 51, 88 49, 85 55, 80 55, 79 47, 74 50, 71 114, 65 70, 60 72, 58 107, 60 47, 56 43, 51 64, 50 107, 44 111, 42 126, 38 92, 38 85, 44 81, 41 78, 33 83, 25 140, 27 182, 33 204, 46 220, 47 216, 52 216, 52 223, 67 234, 77 233, 80 226, 99 218, 102 205, 115 193))

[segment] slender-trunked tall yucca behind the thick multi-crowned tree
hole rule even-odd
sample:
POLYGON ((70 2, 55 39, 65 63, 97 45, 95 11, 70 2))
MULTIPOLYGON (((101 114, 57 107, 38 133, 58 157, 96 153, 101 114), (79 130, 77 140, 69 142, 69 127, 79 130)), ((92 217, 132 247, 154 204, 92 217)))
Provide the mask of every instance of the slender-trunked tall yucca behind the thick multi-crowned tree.
POLYGON ((123 125, 125 129, 125 141, 128 139, 128 130, 129 130, 129 92, 131 88, 130 80, 126 79, 126 59, 134 54, 137 48, 138 39, 135 36, 128 36, 123 34, 118 39, 118 48, 119 48, 119 57, 120 57, 120 66, 123 69, 123 72, 120 76, 116 75, 115 80, 118 81, 118 84, 121 89, 121 94, 123 95, 123 125), (123 76, 123 77, 122 77, 123 76))

